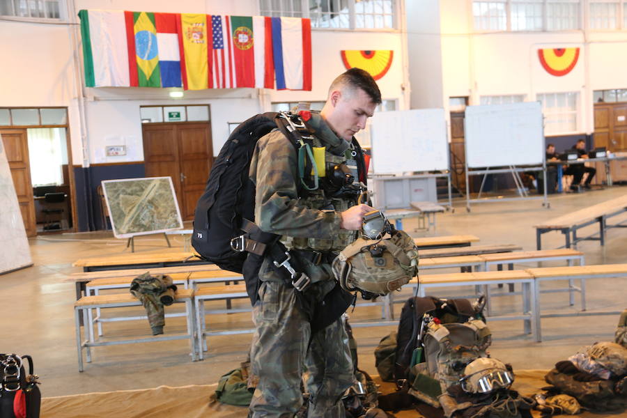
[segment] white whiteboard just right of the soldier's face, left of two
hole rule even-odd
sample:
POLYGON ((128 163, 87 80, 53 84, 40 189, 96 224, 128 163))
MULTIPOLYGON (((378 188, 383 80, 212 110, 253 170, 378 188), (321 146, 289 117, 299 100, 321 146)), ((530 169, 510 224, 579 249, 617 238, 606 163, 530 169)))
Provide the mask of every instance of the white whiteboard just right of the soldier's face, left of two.
POLYGON ((449 169, 444 109, 378 112, 370 129, 374 173, 449 169))

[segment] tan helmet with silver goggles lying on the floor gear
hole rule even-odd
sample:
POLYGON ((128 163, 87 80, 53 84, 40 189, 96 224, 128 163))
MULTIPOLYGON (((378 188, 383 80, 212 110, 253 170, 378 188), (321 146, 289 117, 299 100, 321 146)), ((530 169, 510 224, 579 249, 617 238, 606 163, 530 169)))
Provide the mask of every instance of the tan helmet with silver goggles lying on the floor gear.
POLYGON ((472 360, 459 380, 462 389, 472 394, 485 394, 502 387, 510 387, 514 376, 505 364, 490 357, 472 360))

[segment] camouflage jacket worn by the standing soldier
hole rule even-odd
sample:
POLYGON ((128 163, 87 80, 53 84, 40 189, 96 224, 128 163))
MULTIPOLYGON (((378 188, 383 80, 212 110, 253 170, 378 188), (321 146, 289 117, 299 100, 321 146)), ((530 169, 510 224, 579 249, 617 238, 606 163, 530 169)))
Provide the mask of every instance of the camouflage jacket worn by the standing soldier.
MULTIPOLYGON (((314 147, 326 148, 326 162, 345 161, 349 144, 336 137, 327 125, 324 128, 316 133, 314 147)), ((307 197, 299 196, 297 153, 278 130, 259 139, 249 176, 256 185, 256 224, 265 232, 281 235, 288 249, 339 252, 355 240, 356 231, 340 229, 340 212, 355 205, 356 199, 327 196, 323 187, 307 192, 307 197)), ((327 264, 303 264, 312 282, 332 277, 327 264)), ((263 281, 281 280, 268 261, 263 263, 259 277, 263 281)))

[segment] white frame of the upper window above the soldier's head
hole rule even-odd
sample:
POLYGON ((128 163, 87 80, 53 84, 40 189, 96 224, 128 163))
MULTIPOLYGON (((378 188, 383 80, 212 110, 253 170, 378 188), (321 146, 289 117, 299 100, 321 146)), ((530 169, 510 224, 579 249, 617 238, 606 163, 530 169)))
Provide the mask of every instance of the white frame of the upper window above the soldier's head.
MULTIPOLYGON (((300 1, 301 3, 301 15, 294 15, 293 11, 291 12, 292 14, 286 14, 283 12, 283 10, 265 10, 263 8, 263 0, 259 0, 258 1, 258 6, 259 6, 259 14, 262 16, 272 16, 272 17, 277 17, 274 15, 274 13, 277 13, 280 16, 283 17, 302 17, 302 18, 307 18, 307 19, 311 19, 311 30, 312 31, 365 31, 365 32, 398 32, 401 30, 401 22, 399 22, 399 12, 400 12, 400 5, 399 5, 399 0, 390 0, 392 2, 392 13, 382 13, 382 14, 374 14, 374 13, 361 13, 361 15, 373 15, 373 16, 382 16, 385 19, 385 16, 391 15, 392 16, 392 27, 389 28, 362 28, 362 27, 357 27, 356 25, 356 14, 355 14, 355 3, 356 1, 359 0, 346 0, 348 1, 348 27, 319 27, 319 26, 314 26, 314 19, 311 17, 311 13, 310 13, 310 9, 309 9, 309 0, 288 0, 290 1, 290 3, 295 2, 295 1, 300 1), (272 13, 272 14, 269 14, 272 13)), ((325 1, 325 0, 322 0, 325 1)), ((329 0, 329 1, 335 1, 335 0, 329 0)), ((337 1, 341 1, 341 0, 337 0, 337 1)), ((281 3, 282 5, 283 3, 281 3)), ((385 9, 384 9, 385 11, 385 9)), ((325 12, 325 13, 332 13, 332 12, 325 12)))

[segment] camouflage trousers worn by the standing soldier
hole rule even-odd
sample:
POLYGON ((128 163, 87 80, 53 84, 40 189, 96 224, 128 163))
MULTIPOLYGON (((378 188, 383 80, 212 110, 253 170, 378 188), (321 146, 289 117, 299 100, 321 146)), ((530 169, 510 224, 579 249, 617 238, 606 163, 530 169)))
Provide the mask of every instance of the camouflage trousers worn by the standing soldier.
POLYGON ((341 396, 353 385, 353 364, 342 318, 312 335, 293 287, 264 281, 259 296, 251 346, 251 371, 259 381, 249 417, 294 417, 302 405, 301 382, 307 370, 307 416, 343 418, 341 396))

